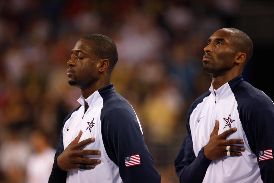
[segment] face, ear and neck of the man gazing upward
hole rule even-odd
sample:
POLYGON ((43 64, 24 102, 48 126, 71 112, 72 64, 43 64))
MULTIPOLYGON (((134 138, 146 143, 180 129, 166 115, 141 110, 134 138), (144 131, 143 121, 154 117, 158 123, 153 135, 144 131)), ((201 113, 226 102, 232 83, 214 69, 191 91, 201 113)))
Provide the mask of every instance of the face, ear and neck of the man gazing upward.
POLYGON ((216 90, 244 69, 246 53, 235 53, 233 44, 233 32, 219 29, 209 37, 204 48, 204 70, 212 76, 212 85, 216 90))

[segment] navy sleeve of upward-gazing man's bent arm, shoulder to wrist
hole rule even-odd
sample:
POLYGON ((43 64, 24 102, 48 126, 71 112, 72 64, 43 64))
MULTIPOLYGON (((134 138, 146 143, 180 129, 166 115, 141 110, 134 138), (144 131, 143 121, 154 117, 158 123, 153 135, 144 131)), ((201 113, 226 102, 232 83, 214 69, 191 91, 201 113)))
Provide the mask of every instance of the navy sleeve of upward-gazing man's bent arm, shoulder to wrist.
POLYGON ((198 156, 195 156, 189 126, 190 115, 192 114, 192 111, 209 94, 210 93, 207 92, 196 101, 194 101, 188 111, 188 118, 186 122, 186 137, 176 159, 174 160, 175 171, 180 182, 203 182, 203 179, 206 175, 206 170, 211 163, 211 160, 207 159, 204 154, 204 147, 200 150, 198 156))

